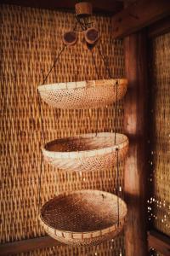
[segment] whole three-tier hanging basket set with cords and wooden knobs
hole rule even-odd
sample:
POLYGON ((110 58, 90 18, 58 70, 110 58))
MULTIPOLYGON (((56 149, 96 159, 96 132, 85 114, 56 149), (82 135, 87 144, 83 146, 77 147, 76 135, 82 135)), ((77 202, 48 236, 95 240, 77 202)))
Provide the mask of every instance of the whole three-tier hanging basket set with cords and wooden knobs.
MULTIPOLYGON (((76 4, 76 26, 63 36, 64 46, 54 60, 42 85, 38 86, 38 96, 53 108, 81 109, 100 108, 122 99, 127 90, 127 79, 112 79, 111 70, 99 48, 99 31, 88 22, 92 15, 90 3, 76 4), (104 61, 109 79, 45 84, 59 56, 65 48, 77 43, 77 26, 84 33, 83 44, 94 49, 104 61)), ((41 113, 41 101, 39 97, 41 113)), ((41 113, 42 119, 42 113, 41 113)), ((70 194, 58 195, 46 202, 40 210, 40 222, 49 236, 66 244, 93 245, 113 238, 123 229, 127 216, 127 206, 119 195, 119 161, 127 154, 128 139, 115 132, 98 132, 66 137, 44 142, 42 155, 50 165, 65 172, 94 172, 116 166, 117 195, 84 189, 70 194)), ((42 165, 41 165, 42 166, 42 165)))

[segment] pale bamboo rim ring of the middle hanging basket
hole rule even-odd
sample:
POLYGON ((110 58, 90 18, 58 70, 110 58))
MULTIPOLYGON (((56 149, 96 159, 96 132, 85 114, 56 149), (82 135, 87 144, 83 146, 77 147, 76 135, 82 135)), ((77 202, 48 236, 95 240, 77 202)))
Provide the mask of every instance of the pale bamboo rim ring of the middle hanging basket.
MULTIPOLYGON (((118 148, 119 150, 121 150, 122 148, 126 147, 128 145, 128 137, 122 133, 116 133, 116 137, 123 137, 123 142, 122 143, 116 143, 113 144, 112 146, 108 146, 105 148, 94 148, 94 149, 88 149, 88 150, 80 150, 80 151, 71 151, 71 152, 63 152, 63 151, 50 151, 48 150, 48 146, 59 142, 59 141, 63 141, 63 140, 74 140, 74 139, 78 139, 78 138, 99 138, 99 136, 105 135, 105 137, 108 137, 110 135, 110 137, 114 137, 115 136, 115 132, 99 132, 96 136, 95 133, 86 133, 86 134, 82 134, 82 135, 77 135, 74 137, 64 137, 64 138, 59 138, 59 139, 55 139, 53 141, 49 141, 48 143, 46 143, 44 145, 44 147, 42 148, 42 153, 43 154, 50 154, 50 157, 54 157, 55 159, 60 159, 60 158, 71 158, 71 159, 79 159, 80 157, 92 157, 95 155, 102 155, 102 154, 111 154, 112 152, 115 152, 116 149, 118 148)), ((114 138, 113 138, 114 140, 114 138)))

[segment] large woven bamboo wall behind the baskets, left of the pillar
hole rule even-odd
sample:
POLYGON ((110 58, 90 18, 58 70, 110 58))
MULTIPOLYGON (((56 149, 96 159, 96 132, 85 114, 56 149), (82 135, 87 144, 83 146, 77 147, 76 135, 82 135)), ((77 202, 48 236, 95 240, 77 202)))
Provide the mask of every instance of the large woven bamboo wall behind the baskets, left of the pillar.
MULTIPOLYGON (((1 242, 42 236, 37 220, 38 177, 42 147, 42 129, 37 106, 37 85, 48 73, 55 55, 62 47, 61 35, 74 25, 73 15, 16 6, 1 5, 0 49, 1 79, 1 242)), ((102 33, 104 54, 108 55, 116 78, 124 74, 122 42, 111 39, 109 17, 95 16, 102 33)), ((105 67, 95 54, 99 74, 106 77, 105 67)), ((82 44, 66 49, 47 82, 97 79, 93 61, 82 44)), ((99 131, 114 130, 115 108, 99 110, 99 131)), ((123 103, 119 102, 118 131, 122 131, 123 103)), ((97 112, 59 110, 42 103, 46 141, 85 132, 93 132, 97 112)), ((121 164, 123 167, 123 164, 121 164)), ((42 202, 55 194, 73 189, 105 189, 114 192, 113 170, 86 174, 66 173, 46 164, 42 172, 42 202)), ((120 183, 123 195, 123 173, 120 183)), ((26 253, 26 255, 124 255, 123 236, 115 241, 89 249, 58 247, 26 253), (69 253, 71 250, 71 253, 69 253), (82 250, 82 252, 81 252, 82 250), (88 250, 88 251, 87 251, 88 250), (76 252, 76 253, 75 253, 76 252), (113 253, 115 252, 115 254, 113 253)))

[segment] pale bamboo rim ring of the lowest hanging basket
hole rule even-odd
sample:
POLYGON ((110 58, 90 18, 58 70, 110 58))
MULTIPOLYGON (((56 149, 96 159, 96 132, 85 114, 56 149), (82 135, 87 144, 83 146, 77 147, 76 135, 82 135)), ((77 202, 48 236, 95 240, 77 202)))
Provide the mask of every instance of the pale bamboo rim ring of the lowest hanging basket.
MULTIPOLYGON (((111 233, 112 231, 114 231, 116 229, 120 229, 120 227, 124 225, 124 223, 126 221, 126 217, 127 217, 127 204, 126 204, 125 201, 122 200, 122 198, 120 198, 117 195, 112 194, 110 192, 97 190, 97 189, 81 189, 81 190, 71 191, 70 193, 59 194, 59 195, 55 196, 54 198, 50 199, 49 201, 45 202, 45 204, 43 204, 43 206, 40 210, 40 214, 38 216, 38 218, 39 218, 41 224, 43 225, 44 229, 47 230, 48 232, 54 231, 54 235, 56 235, 56 231, 57 231, 63 237, 65 237, 65 235, 70 235, 70 237, 72 237, 72 238, 74 238, 73 235, 75 234, 77 236, 77 239, 82 239, 83 235, 90 235, 91 238, 104 236, 105 234, 111 233), (94 231, 77 232, 77 231, 68 231, 68 230, 55 229, 53 226, 49 225, 46 221, 43 220, 42 210, 43 210, 44 207, 49 205, 51 201, 59 199, 63 196, 68 196, 68 195, 73 195, 73 194, 81 194, 81 193, 84 193, 84 192, 89 193, 90 195, 92 195, 92 194, 94 194, 94 195, 95 194, 96 195, 107 195, 111 198, 111 200, 114 199, 115 201, 117 201, 117 198, 119 198, 119 207, 122 206, 124 208, 124 214, 123 214, 123 217, 121 219, 119 219, 119 225, 118 225, 118 221, 116 221, 116 223, 112 224, 110 227, 107 227, 105 229, 94 230, 94 231), (80 236, 80 237, 78 238, 78 236, 80 236)), ((66 238, 68 238, 68 236, 66 238)), ((87 238, 89 238, 89 237, 87 237, 87 238)))

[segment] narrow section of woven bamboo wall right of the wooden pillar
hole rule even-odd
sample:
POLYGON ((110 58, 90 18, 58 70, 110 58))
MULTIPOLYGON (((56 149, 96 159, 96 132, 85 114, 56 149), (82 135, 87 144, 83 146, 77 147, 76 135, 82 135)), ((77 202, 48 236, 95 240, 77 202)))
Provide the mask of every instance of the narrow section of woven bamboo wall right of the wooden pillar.
POLYGON ((154 193, 150 219, 170 236, 170 33, 153 39, 151 46, 152 115, 151 160, 154 193))

